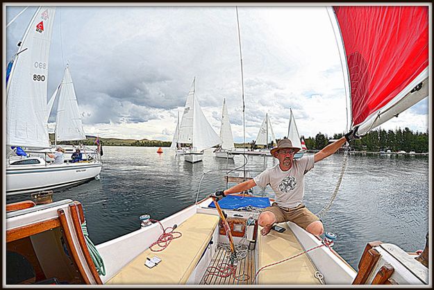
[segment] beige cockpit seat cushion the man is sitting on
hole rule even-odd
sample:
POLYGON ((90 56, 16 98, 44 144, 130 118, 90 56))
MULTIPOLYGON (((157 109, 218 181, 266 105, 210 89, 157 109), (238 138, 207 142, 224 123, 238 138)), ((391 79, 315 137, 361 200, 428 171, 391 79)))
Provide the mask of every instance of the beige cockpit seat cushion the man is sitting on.
MULTIPOLYGON (((303 252, 297 237, 287 223, 278 223, 285 232, 271 230, 266 236, 258 227, 258 269, 279 262, 303 252)), ((315 267, 307 255, 303 254, 281 264, 262 269, 257 278, 258 284, 320 284, 315 278, 315 267)))

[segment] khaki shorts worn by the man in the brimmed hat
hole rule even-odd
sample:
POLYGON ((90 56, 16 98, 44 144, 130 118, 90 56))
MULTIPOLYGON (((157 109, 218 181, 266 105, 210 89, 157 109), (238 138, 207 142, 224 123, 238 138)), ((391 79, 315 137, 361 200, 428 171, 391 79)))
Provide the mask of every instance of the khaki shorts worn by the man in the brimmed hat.
POLYGON ((262 212, 272 212, 276 216, 276 223, 283 223, 283 221, 292 221, 301 228, 305 229, 314 221, 321 221, 318 216, 312 214, 303 203, 297 207, 281 207, 277 203, 273 203, 271 207, 265 207, 262 212))

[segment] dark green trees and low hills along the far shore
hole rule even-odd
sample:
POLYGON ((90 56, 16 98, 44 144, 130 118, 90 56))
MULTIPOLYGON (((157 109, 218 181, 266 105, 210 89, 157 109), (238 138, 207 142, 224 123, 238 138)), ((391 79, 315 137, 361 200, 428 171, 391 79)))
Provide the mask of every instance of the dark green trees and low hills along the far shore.
MULTIPOLYGON (((321 132, 315 135, 315 137, 304 137, 306 146, 310 151, 318 151, 327 146, 330 140, 340 139, 343 134, 334 134, 329 137, 321 132)), ((54 134, 50 134, 51 143, 54 143, 54 134)), ((86 136, 85 140, 72 141, 72 142, 58 142, 58 144, 83 144, 94 145, 97 137, 86 136)), ((149 140, 149 139, 118 139, 118 138, 102 138, 99 137, 101 144, 105 146, 146 146, 146 147, 169 147, 172 144, 171 141, 149 140)), ((264 146, 256 146, 255 140, 247 144, 235 143, 236 148, 262 148, 264 146)), ((428 152, 428 130, 425 133, 413 132, 409 128, 401 128, 396 130, 372 130, 367 135, 360 139, 353 140, 351 142, 351 149, 354 151, 363 152, 379 152, 390 150, 392 152, 398 151, 415 151, 415 153, 428 152)), ((274 146, 274 142, 269 144, 274 146)))

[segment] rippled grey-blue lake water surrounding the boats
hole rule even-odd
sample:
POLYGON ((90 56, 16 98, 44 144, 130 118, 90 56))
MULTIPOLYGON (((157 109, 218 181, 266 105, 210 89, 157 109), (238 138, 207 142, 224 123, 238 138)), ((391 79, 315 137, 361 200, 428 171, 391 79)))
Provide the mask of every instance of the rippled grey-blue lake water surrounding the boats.
MULTIPOLYGON (((190 164, 169 148, 104 146, 100 180, 60 189, 53 200, 65 198, 83 204, 87 230, 94 244, 140 228, 139 216, 164 219, 192 205, 203 173, 244 164, 242 155, 226 160, 212 150, 203 162, 190 164)), ((304 203, 317 213, 331 198, 344 155, 335 153, 306 174, 304 203)), ((273 157, 249 156, 246 169, 256 176, 277 164, 273 157)), ((226 171, 207 174, 199 199, 226 188, 226 171)), ((259 188, 255 194, 262 194, 259 188)), ((274 196, 267 187, 265 196, 274 196)), ((28 195, 11 196, 8 203, 28 195)), ((326 231, 337 234, 334 249, 357 270, 369 241, 397 244, 403 250, 423 249, 428 232, 428 157, 415 155, 349 155, 340 190, 323 216, 326 231)))

